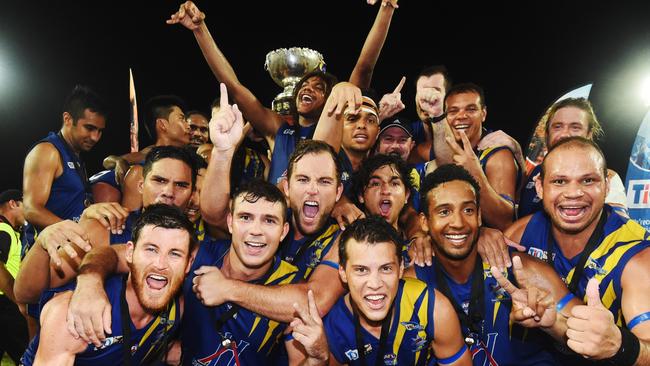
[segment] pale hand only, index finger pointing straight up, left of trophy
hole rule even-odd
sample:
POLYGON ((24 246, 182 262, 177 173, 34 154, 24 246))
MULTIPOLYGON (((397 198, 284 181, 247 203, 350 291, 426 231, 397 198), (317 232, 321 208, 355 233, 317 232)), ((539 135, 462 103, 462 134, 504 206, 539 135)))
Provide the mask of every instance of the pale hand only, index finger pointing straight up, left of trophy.
MULTIPOLYGON (((234 152, 244 131, 244 117, 237 104, 228 104, 226 85, 220 83, 219 88, 220 108, 210 119, 210 140, 217 151, 234 152)), ((214 154, 212 157, 215 158, 214 154)))

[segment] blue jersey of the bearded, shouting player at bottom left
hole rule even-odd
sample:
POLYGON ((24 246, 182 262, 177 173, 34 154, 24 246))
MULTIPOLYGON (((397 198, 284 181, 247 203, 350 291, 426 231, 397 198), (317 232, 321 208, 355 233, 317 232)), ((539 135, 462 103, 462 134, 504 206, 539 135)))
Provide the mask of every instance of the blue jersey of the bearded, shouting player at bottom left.
MULTIPOLYGON (((120 311, 120 298, 122 296, 122 287, 124 286, 123 281, 123 276, 112 276, 106 280, 106 285, 104 286, 106 296, 112 305, 112 334, 106 338, 101 347, 98 348, 90 344, 85 351, 77 354, 75 365, 115 366, 124 364, 124 333, 122 331, 122 315, 120 311)), ((72 290, 73 287, 74 285, 52 289, 51 291, 72 290)), ((129 320, 129 324, 131 325, 131 364, 139 365, 145 360, 151 362, 151 357, 154 357, 158 351, 162 350, 162 347, 166 346, 164 344, 165 335, 167 335, 167 340, 169 341, 178 332, 180 319, 180 304, 178 297, 176 297, 169 308, 169 316, 160 314, 141 329, 136 329, 129 320)), ((63 331, 67 332, 67 330, 63 331)), ((33 364, 36 350, 38 349, 38 342, 39 336, 36 335, 21 359, 24 365, 33 364)))

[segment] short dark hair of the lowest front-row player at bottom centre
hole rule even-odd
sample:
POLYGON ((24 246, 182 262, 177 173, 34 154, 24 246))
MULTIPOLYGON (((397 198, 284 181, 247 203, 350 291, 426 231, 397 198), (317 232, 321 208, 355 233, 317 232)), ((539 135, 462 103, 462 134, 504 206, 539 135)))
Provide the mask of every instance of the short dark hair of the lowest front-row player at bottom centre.
POLYGON ((341 233, 339 241, 339 264, 345 267, 348 261, 346 248, 350 239, 357 242, 366 242, 370 245, 377 243, 393 243, 395 245, 395 254, 397 260, 402 262, 402 244, 397 230, 380 216, 369 216, 365 219, 358 219, 345 228, 341 233))

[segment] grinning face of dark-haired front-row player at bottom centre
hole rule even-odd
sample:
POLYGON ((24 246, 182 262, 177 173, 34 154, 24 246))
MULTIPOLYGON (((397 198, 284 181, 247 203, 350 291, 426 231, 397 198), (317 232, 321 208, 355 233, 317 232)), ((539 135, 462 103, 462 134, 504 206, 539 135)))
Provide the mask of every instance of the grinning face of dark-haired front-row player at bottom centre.
POLYGON ((388 315, 404 270, 393 243, 357 242, 346 245, 348 260, 339 275, 350 290, 349 301, 362 325, 377 326, 388 315))

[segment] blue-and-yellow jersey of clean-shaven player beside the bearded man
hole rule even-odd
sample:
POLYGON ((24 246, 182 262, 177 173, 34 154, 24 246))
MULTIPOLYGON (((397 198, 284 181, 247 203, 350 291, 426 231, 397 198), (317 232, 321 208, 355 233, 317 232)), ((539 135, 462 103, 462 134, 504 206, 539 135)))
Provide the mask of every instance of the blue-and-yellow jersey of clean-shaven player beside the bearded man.
MULTIPOLYGON (((240 308, 233 317, 226 320, 219 331, 216 330, 217 319, 230 310, 232 305, 225 303, 216 307, 204 306, 192 291, 192 280, 196 276, 194 270, 200 266, 221 268, 223 258, 229 250, 229 240, 201 245, 190 275, 185 280, 185 314, 181 331, 184 365, 266 365, 286 328, 286 324, 240 308), (222 343, 226 339, 230 342, 229 346, 222 343)), ((270 274, 253 283, 293 283, 299 279, 296 274, 296 267, 276 257, 270 274)))

